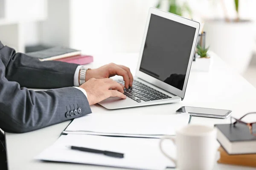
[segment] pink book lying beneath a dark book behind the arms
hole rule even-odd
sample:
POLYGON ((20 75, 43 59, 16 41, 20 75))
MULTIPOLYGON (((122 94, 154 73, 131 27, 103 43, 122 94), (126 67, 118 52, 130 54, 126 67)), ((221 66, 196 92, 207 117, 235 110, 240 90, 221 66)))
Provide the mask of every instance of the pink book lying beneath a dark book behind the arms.
POLYGON ((62 61, 62 62, 69 62, 69 63, 75 63, 79 65, 84 65, 84 64, 93 62, 93 56, 76 55, 76 56, 62 58, 62 59, 56 59, 55 61, 62 61))

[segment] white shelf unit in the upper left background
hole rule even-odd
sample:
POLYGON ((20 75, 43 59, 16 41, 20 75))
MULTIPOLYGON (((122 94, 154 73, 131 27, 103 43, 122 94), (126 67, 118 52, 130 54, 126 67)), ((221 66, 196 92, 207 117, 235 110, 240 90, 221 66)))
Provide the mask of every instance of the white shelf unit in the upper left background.
POLYGON ((46 19, 46 5, 47 0, 0 0, 0 40, 18 52, 38 43, 35 22, 46 19))

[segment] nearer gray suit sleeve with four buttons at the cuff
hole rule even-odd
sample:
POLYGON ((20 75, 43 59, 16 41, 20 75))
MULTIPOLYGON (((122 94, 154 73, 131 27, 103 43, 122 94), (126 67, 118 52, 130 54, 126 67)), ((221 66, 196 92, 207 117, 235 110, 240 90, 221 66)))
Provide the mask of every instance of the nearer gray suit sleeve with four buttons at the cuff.
MULTIPOLYGON (((91 113, 86 96, 76 88, 31 91, 27 88, 20 88, 20 84, 17 82, 9 81, 6 78, 8 71, 4 64, 8 58, 4 55, 9 54, 6 50, 9 51, 9 48, 0 49, 1 129, 11 133, 24 133, 91 113)), ((26 65, 26 62, 29 61, 22 60, 21 62, 23 62, 22 65, 26 65)), ((18 62, 17 65, 19 65, 18 62)), ((18 73, 13 71, 12 74, 18 73)), ((24 81, 29 79, 25 78, 24 74, 20 74, 20 76, 17 79, 25 79, 24 81)), ((41 79, 39 73, 37 79, 38 81, 41 79)))

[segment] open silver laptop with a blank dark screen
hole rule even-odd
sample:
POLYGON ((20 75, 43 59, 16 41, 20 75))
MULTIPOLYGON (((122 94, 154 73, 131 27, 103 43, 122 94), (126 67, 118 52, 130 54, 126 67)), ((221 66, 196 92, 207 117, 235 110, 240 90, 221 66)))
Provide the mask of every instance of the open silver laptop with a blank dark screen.
POLYGON ((119 109, 183 100, 199 28, 198 22, 150 8, 134 82, 124 90, 127 98, 112 97, 99 105, 119 109))

